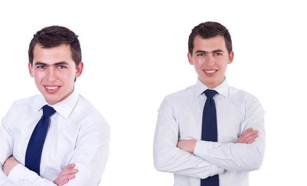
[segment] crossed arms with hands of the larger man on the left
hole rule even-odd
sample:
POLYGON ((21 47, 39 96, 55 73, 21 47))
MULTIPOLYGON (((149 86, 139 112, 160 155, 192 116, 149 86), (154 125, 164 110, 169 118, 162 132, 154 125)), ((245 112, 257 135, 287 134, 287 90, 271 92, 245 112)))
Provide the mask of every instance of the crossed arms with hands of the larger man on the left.
POLYGON ((79 134, 75 150, 67 158, 68 166, 52 181, 41 178, 12 157, 14 144, 4 119, 0 128, 0 147, 3 150, 0 153, 0 185, 98 185, 109 153, 109 126, 106 122, 86 126, 79 134))

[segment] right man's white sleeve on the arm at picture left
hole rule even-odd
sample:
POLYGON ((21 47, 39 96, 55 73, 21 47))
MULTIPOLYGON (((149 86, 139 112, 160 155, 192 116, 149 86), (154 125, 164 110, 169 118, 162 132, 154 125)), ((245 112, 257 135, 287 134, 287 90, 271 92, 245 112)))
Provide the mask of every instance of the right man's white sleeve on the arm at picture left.
POLYGON ((224 168, 177 148, 178 135, 179 126, 173 109, 164 98, 153 140, 153 161, 158 171, 202 179, 224 172, 224 168))

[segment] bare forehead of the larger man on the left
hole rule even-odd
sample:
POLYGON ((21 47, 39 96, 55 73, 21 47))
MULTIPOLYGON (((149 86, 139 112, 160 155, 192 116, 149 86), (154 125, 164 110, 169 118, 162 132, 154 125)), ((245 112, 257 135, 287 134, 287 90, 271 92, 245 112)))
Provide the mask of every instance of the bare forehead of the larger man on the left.
POLYGON ((65 44, 52 48, 43 48, 41 45, 36 44, 33 50, 33 62, 35 63, 36 61, 46 64, 54 64, 61 61, 74 63, 71 48, 65 44))

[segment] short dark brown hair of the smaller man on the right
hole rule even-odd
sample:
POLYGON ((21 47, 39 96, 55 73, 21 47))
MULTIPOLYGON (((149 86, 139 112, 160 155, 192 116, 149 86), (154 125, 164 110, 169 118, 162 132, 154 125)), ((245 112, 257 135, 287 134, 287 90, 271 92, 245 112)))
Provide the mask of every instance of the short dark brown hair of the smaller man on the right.
POLYGON ((194 38, 197 35, 201 36, 203 39, 215 37, 216 35, 222 35, 224 36, 228 54, 230 54, 232 51, 231 37, 226 27, 217 22, 205 22, 195 26, 189 36, 188 49, 191 55, 194 48, 194 38))

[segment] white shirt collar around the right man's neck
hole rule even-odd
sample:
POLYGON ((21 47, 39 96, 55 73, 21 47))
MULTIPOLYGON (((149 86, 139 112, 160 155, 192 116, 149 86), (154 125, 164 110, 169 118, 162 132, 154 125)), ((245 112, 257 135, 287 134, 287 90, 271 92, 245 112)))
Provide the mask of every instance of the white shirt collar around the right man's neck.
MULTIPOLYGON (((197 81, 196 81, 196 84, 195 84, 195 96, 196 97, 200 96, 207 89, 209 89, 209 88, 206 85, 204 85, 202 83, 202 81, 199 80, 199 78, 197 78, 197 81)), ((218 94, 221 94, 225 98, 227 98, 228 97, 228 89, 229 89, 229 85, 228 85, 227 79, 225 77, 222 84, 216 86, 215 88, 213 88, 211 90, 215 90, 218 94)))

